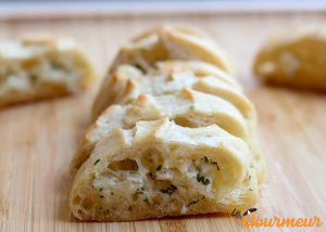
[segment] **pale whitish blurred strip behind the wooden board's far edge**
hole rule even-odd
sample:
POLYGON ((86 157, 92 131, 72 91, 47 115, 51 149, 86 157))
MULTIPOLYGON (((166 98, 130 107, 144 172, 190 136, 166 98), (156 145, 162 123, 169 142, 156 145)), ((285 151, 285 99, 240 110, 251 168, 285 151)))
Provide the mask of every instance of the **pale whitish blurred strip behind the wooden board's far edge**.
POLYGON ((0 1, 0 18, 325 10, 326 1, 323 0, 0 1))

